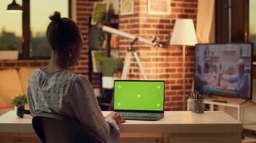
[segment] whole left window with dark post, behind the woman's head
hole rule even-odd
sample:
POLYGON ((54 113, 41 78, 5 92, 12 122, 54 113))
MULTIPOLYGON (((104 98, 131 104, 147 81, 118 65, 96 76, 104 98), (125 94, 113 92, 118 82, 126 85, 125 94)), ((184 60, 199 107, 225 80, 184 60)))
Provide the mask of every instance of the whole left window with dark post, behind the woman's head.
POLYGON ((17 0, 22 5, 21 13, 6 11, 12 0, 0 1, 0 43, 15 44, 19 59, 44 59, 50 57, 50 46, 46 39, 48 18, 53 11, 62 17, 70 16, 70 0, 17 0), (4 20, 3 20, 4 19, 4 20))

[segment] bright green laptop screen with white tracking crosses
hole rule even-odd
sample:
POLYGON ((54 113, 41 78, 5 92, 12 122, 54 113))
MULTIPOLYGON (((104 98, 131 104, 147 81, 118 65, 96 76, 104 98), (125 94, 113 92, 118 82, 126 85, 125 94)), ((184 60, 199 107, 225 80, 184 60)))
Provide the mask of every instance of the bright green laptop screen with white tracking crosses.
POLYGON ((165 83, 115 81, 114 109, 163 111, 165 83))

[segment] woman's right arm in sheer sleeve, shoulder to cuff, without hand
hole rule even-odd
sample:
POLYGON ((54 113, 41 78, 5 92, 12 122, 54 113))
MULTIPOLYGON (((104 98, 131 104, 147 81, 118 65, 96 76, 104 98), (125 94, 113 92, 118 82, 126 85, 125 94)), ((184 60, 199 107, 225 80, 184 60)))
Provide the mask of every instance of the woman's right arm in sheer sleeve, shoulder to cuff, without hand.
POLYGON ((85 77, 74 79, 68 100, 76 118, 105 141, 117 142, 119 127, 112 118, 104 119, 91 84, 85 77))

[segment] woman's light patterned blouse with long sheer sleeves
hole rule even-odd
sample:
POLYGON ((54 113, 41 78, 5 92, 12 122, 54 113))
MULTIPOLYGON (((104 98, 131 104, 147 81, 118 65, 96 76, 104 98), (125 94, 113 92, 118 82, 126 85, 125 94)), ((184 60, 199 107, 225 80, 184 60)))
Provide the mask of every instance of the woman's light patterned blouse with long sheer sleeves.
POLYGON ((119 127, 104 119, 91 84, 68 70, 46 74, 35 70, 29 78, 28 102, 32 116, 40 112, 63 114, 78 119, 84 127, 106 142, 117 142, 119 127))

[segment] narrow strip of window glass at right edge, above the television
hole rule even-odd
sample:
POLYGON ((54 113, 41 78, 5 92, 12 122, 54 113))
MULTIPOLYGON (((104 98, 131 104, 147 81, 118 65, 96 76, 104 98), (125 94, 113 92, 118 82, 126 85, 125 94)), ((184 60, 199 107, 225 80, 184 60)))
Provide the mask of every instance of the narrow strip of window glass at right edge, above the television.
POLYGON ((253 54, 256 56, 256 1, 250 0, 249 4, 249 32, 250 42, 253 42, 253 54))

